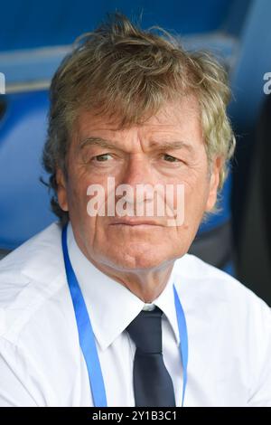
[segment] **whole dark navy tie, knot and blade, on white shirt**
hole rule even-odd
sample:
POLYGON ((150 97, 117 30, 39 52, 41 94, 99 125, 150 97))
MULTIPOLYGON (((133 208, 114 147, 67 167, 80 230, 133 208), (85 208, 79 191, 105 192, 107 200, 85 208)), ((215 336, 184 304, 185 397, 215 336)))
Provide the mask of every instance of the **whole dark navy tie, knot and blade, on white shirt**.
POLYGON ((155 307, 142 310, 126 327, 135 343, 134 392, 135 406, 174 407, 173 382, 162 353, 163 312, 155 307))

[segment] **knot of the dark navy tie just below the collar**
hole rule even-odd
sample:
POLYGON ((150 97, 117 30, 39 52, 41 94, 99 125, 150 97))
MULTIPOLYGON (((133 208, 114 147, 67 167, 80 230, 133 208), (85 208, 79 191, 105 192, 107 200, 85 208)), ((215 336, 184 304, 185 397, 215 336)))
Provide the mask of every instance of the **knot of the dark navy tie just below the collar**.
POLYGON ((142 310, 126 327, 136 348, 145 354, 162 353, 162 310, 155 307, 152 311, 142 310))

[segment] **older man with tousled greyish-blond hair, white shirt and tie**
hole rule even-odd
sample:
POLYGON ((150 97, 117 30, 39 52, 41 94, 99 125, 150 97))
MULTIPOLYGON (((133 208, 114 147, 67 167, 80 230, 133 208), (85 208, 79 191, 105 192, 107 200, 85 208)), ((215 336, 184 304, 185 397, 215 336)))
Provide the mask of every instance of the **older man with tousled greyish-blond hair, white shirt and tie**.
POLYGON ((187 254, 234 137, 220 65, 115 15, 51 82, 60 221, 1 262, 0 405, 271 406, 271 314, 187 254))

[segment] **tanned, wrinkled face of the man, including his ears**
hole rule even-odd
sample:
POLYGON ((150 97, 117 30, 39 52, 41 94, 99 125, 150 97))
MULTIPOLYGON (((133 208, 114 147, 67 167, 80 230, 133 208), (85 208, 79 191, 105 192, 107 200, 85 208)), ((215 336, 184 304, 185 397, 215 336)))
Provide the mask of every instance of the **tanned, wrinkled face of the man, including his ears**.
MULTIPOLYGON (((58 170, 59 202, 70 213, 76 241, 85 256, 119 270, 153 269, 189 250, 203 213, 216 201, 220 161, 209 168, 199 107, 191 96, 165 105, 143 125, 124 129, 117 129, 106 117, 82 113, 71 140, 67 172, 65 181, 58 170), (133 209, 134 216, 107 216, 108 177, 115 179, 115 191, 119 184, 128 184, 134 191, 126 197, 126 207, 130 215, 133 209), (87 211, 91 184, 104 188, 106 215, 91 216, 87 211), (144 216, 135 215, 138 184, 172 185, 173 203, 165 208, 164 216, 158 216, 155 207, 155 202, 168 203, 163 191, 154 193, 153 216, 146 215, 146 210, 144 216), (173 213, 177 206, 177 184, 184 190, 184 220, 169 225, 169 211, 173 213)), ((119 198, 114 194, 116 204, 119 198)), ((146 207, 151 201, 145 196, 140 203, 146 207)))

